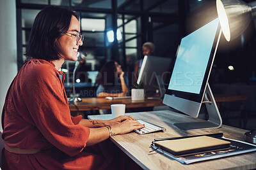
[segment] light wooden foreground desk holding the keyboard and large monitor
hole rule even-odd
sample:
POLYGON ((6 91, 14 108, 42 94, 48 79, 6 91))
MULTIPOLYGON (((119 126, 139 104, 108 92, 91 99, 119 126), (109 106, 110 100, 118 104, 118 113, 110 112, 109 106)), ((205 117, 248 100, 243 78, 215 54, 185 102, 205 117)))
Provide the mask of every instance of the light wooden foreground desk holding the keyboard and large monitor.
MULTIPOLYGON (((215 160, 207 160, 205 162, 197 162, 194 164, 184 165, 177 160, 169 159, 157 152, 150 152, 151 142, 156 138, 168 138, 177 136, 191 136, 198 134, 209 134, 223 132, 226 138, 238 139, 244 141, 244 132, 246 130, 238 129, 222 125, 219 129, 200 130, 200 131, 180 131, 173 125, 175 122, 197 121, 186 115, 177 114, 172 111, 150 111, 131 113, 136 119, 143 119, 157 125, 166 127, 166 132, 155 132, 152 134, 139 135, 135 132, 124 135, 116 135, 111 137, 111 141, 115 143, 124 153, 131 157, 134 162, 143 169, 255 169, 256 168, 256 152, 225 157, 215 160)), ((111 115, 90 115, 91 119, 111 118, 111 115)))

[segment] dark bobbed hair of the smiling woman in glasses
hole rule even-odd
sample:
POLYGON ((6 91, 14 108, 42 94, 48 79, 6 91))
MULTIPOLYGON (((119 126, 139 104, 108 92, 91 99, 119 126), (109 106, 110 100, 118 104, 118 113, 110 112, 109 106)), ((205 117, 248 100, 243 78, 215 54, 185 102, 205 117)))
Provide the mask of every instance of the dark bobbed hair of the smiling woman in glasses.
POLYGON ((25 55, 35 59, 58 60, 61 58, 56 39, 68 31, 73 11, 49 6, 36 15, 25 55))

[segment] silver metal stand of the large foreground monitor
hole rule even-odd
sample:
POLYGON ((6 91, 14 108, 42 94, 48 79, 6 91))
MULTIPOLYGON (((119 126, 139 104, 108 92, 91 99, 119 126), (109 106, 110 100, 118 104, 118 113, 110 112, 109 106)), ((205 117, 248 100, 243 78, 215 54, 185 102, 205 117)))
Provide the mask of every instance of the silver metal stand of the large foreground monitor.
MULTIPOLYGON (((209 83, 207 83, 204 99, 202 104, 205 104, 207 113, 209 115, 208 120, 200 120, 200 122, 185 122, 185 123, 176 123, 175 126, 179 127, 183 131, 191 130, 200 130, 200 129, 216 129, 221 127, 222 119, 218 106, 215 102, 215 99, 212 95, 211 88, 209 83)), ((202 107, 201 107, 202 108, 202 107)))

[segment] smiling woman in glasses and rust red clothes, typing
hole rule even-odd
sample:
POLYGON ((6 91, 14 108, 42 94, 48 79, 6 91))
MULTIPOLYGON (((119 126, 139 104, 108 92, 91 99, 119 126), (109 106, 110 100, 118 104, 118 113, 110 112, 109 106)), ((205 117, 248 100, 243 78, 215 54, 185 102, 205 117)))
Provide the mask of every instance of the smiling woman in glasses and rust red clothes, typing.
POLYGON ((4 103, 4 169, 111 168, 111 143, 101 142, 143 127, 130 116, 70 116, 64 74, 58 70, 65 60, 77 60, 81 45, 76 13, 54 6, 38 13, 26 49, 32 59, 20 68, 4 103))

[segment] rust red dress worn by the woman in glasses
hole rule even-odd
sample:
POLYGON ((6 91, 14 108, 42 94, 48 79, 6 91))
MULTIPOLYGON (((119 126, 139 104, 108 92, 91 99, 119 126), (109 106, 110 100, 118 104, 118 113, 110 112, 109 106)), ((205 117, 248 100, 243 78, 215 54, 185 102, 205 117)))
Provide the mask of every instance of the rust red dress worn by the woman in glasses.
POLYGON ((90 129, 79 125, 82 117, 70 115, 64 78, 52 62, 39 59, 29 60, 17 73, 4 103, 2 137, 8 146, 43 151, 33 155, 5 151, 8 168, 91 169, 104 165, 106 159, 100 152, 84 152, 90 129), (95 160, 102 163, 97 165, 95 160))

